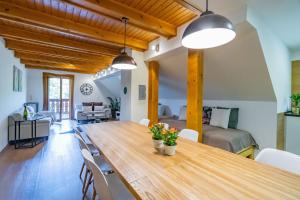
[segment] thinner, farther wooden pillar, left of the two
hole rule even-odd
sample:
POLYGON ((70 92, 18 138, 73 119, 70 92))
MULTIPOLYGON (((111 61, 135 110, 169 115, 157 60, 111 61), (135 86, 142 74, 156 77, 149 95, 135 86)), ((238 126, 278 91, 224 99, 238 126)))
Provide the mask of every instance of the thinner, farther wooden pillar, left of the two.
POLYGON ((150 124, 155 124, 158 122, 159 63, 150 61, 148 67, 148 119, 150 124))

